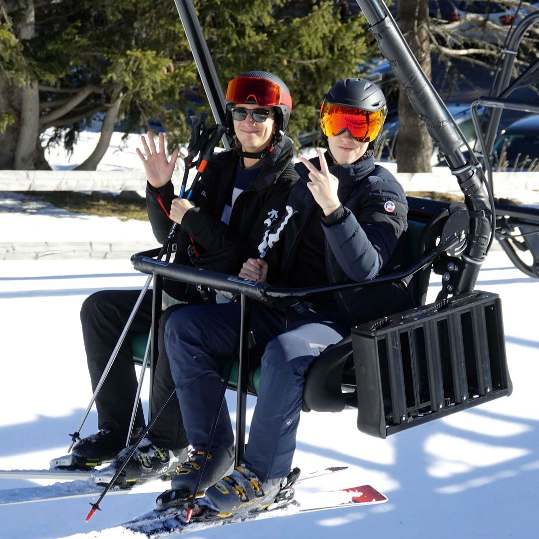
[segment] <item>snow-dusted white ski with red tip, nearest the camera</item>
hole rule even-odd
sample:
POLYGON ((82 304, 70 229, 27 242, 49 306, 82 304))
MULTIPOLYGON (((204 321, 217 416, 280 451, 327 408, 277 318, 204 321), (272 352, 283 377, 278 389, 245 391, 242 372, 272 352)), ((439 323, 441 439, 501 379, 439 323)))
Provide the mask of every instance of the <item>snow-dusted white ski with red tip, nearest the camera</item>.
MULTIPOLYGON (((297 482, 296 482, 297 485, 297 482)), ((388 501, 388 497, 370 485, 344 488, 340 490, 321 490, 310 492, 309 489, 296 488, 292 500, 274 503, 267 509, 255 513, 234 515, 230 518, 212 517, 209 520, 185 522, 185 509, 168 508, 154 510, 122 524, 126 530, 140 533, 146 537, 164 538, 184 533, 199 532, 217 526, 227 526, 245 521, 271 519, 274 517, 312 513, 323 510, 363 507, 388 501)), ((116 528, 117 529, 117 528, 116 528)), ((102 530, 103 535, 110 530, 102 530)), ((99 533, 96 537, 99 537, 99 533)))

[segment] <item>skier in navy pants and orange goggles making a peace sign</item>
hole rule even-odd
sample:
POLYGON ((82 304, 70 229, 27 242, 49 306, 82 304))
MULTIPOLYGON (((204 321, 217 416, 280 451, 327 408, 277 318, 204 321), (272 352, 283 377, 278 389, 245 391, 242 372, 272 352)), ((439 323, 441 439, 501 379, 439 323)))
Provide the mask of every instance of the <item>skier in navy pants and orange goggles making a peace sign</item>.
MULTIPOLYGON (((345 79, 331 87, 320 113, 328 151, 298 164, 300 180, 288 199, 294 218, 281 239, 284 256, 250 258, 240 277, 278 286, 320 286, 373 279, 402 262, 397 244, 407 226, 406 197, 396 179, 374 164, 369 149, 385 115, 385 98, 375 84, 345 79), (272 264, 279 266, 273 281, 268 277, 272 264)), ((358 321, 411 305, 404 284, 376 293, 366 287, 365 292, 324 294, 283 310, 252 305, 250 329, 265 350, 248 444, 240 466, 209 486, 199 505, 218 517, 272 503, 292 466, 303 382, 313 358, 358 321)), ((172 377, 195 447, 204 445, 212 419, 208 410, 216 409, 220 379, 213 356, 231 352, 238 310, 238 305, 189 307, 176 312, 165 329, 172 377)), ((232 440, 225 403, 212 447, 219 451, 232 440)), ((206 466, 211 468, 211 460, 206 466)), ((209 481, 203 478, 202 485, 209 481)), ((168 491, 157 503, 184 499, 181 492, 168 491)))

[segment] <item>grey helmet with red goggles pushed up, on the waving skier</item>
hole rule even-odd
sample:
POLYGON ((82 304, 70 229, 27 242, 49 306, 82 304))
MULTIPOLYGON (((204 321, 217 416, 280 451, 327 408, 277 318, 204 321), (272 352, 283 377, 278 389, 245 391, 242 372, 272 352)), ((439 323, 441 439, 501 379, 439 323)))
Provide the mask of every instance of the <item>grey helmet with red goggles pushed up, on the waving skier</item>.
POLYGON ((231 109, 243 103, 275 108, 275 142, 279 142, 285 135, 292 111, 292 96, 288 86, 277 75, 267 71, 247 71, 232 79, 227 86, 225 99, 225 125, 230 135, 234 135, 231 109), (249 91, 250 87, 252 91, 249 91))

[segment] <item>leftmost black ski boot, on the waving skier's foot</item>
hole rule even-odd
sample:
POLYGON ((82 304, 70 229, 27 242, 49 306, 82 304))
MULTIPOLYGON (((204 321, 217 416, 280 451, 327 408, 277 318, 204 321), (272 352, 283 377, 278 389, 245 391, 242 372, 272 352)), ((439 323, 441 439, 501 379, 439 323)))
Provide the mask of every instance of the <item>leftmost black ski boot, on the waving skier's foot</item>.
MULTIPOLYGON (((136 436, 134 433, 133 436, 136 436)), ((95 434, 81 438, 65 457, 50 461, 50 467, 59 469, 82 469, 92 471, 96 466, 110 462, 126 445, 126 434, 101 429, 95 434)))

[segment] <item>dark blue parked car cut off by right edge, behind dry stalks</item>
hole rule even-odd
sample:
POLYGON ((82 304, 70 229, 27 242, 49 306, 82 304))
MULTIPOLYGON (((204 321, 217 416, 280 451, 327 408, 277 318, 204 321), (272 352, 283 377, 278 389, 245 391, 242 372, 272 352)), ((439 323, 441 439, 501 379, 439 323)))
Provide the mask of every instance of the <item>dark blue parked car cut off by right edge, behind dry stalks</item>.
POLYGON ((494 142, 493 169, 539 171, 539 115, 526 116, 503 129, 494 142))

